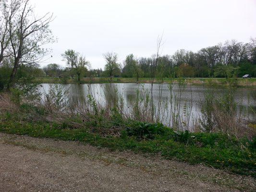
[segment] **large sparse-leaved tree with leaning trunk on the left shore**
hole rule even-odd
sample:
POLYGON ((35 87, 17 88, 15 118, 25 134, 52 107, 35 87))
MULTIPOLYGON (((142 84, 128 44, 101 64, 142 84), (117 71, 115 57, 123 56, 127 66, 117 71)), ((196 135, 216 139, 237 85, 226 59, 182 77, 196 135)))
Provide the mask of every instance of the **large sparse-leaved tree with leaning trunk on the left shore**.
POLYGON ((8 32, 14 63, 8 88, 13 84, 21 63, 38 62, 48 53, 49 50, 43 46, 54 41, 49 29, 52 21, 50 13, 37 18, 29 0, 11 0, 8 32))

